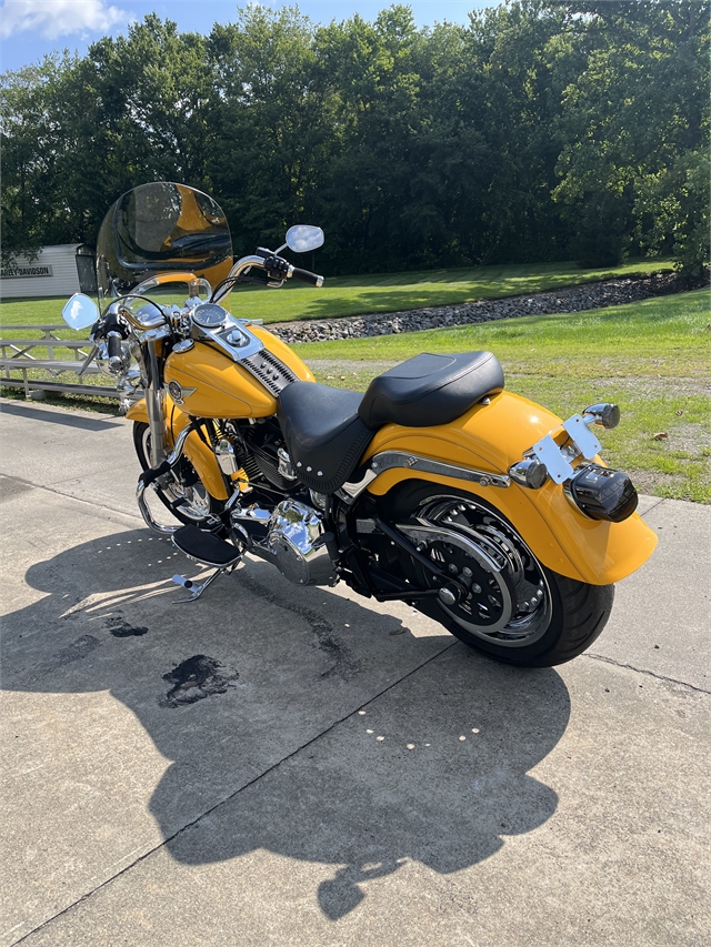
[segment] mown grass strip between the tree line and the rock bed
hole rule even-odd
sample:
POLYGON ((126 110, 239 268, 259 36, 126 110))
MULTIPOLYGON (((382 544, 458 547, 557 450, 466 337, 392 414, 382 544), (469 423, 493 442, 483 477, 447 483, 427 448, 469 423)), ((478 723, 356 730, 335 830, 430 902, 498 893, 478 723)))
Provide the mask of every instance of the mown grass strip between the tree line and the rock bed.
MULTIPOLYGON (((336 319, 501 299, 660 269, 671 269, 670 262, 659 259, 634 260, 609 270, 581 270, 574 263, 539 263, 334 279, 329 279, 327 274, 320 290, 293 281, 281 290, 240 286, 231 293, 228 308, 237 316, 263 319, 264 323, 336 319)), ((17 323, 61 322, 64 302, 64 299, 3 300, 0 302, 0 328, 6 334, 6 328, 17 323)))

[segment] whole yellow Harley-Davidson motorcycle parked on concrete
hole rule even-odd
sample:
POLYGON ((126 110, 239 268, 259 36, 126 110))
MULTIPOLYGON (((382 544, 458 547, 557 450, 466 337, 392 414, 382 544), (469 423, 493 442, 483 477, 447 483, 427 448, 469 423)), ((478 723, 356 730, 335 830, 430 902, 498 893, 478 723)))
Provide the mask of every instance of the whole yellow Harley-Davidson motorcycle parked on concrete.
POLYGON ((201 585, 174 576, 183 601, 248 552, 298 585, 410 603, 498 661, 575 657, 604 627, 613 583, 657 542, 630 478, 599 457, 595 429, 619 409, 561 421, 507 392, 490 352, 417 355, 364 395, 318 384, 226 306, 242 282, 320 286, 280 254, 322 242, 292 226, 278 250, 233 262, 211 198, 146 184, 101 226, 99 308, 81 294, 64 306, 72 328, 93 323, 90 357, 136 395, 146 523, 214 570, 201 585))

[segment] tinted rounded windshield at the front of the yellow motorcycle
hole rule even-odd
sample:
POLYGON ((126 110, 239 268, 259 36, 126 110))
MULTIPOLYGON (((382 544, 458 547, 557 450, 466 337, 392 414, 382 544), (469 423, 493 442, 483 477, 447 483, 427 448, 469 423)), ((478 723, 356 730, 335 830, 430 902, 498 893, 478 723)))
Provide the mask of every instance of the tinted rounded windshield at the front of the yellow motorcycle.
POLYGON ((160 273, 194 273, 214 286, 232 266, 222 209, 208 194, 161 181, 127 191, 111 205, 97 241, 100 302, 160 273))

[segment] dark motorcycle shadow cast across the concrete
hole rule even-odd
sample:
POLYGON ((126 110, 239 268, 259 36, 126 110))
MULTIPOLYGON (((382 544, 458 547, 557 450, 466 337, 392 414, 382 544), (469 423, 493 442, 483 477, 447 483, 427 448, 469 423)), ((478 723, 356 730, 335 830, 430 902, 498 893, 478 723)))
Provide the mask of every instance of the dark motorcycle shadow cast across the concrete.
MULTIPOLYGON (((146 531, 38 563, 27 581, 46 595, 4 619, 3 654, 6 689, 109 689, 133 712, 171 762, 132 802, 150 795, 179 863, 232 862, 236 889, 258 849, 332 866, 317 896, 336 920, 408 860, 458 872, 554 813, 528 770, 569 719, 555 671, 415 635, 390 606, 260 562, 178 606, 186 566, 146 531)), ((122 753, 109 727, 92 739, 122 753)))

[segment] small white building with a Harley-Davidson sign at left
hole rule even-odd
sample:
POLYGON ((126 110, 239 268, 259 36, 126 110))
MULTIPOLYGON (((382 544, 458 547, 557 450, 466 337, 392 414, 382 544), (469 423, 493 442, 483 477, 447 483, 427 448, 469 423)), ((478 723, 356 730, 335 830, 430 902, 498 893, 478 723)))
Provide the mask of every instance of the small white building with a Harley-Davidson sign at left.
POLYGON ((73 293, 96 293, 94 251, 86 243, 42 246, 34 260, 18 256, 2 266, 0 298, 67 298, 73 293))

